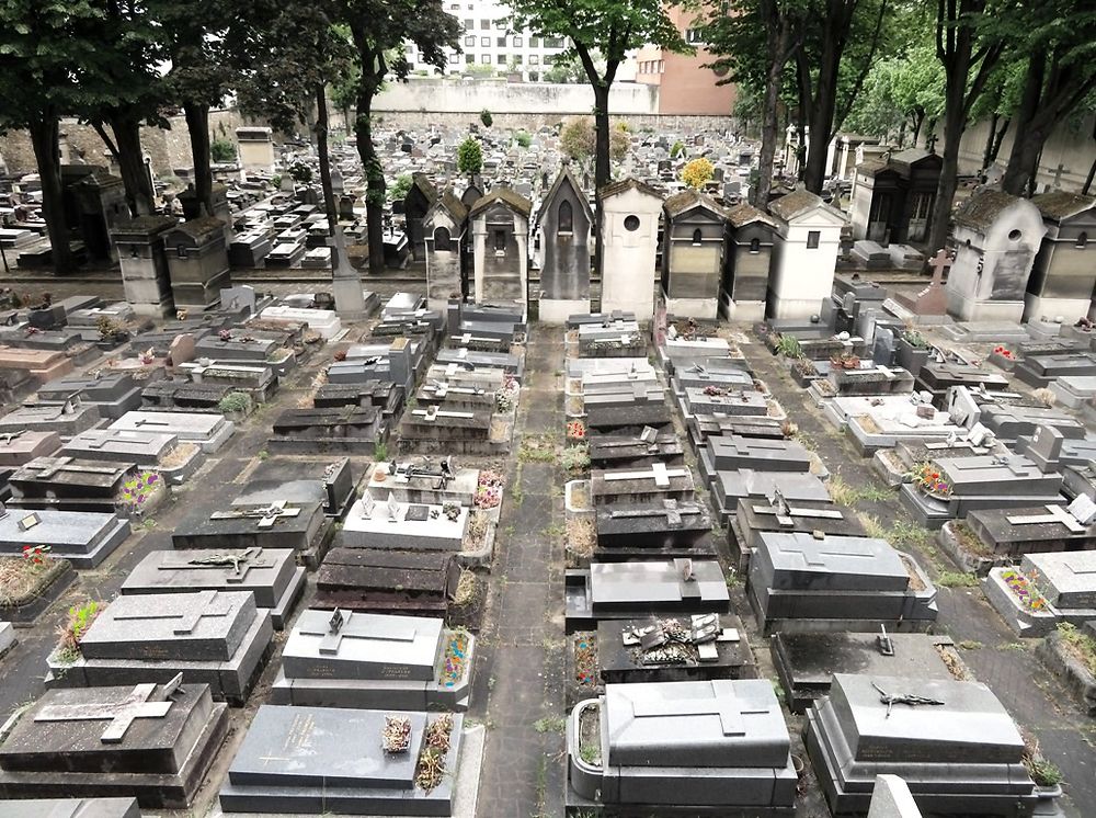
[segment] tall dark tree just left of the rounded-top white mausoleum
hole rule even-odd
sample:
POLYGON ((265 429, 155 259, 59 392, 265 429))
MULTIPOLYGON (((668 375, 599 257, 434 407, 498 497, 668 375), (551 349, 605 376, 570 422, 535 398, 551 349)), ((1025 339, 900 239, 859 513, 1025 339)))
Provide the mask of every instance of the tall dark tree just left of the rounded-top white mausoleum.
POLYGON ((980 23, 994 13, 1007 13, 1009 4, 1011 0, 938 0, 936 58, 944 68, 944 150, 928 229, 933 251, 944 247, 948 238, 958 188, 959 141, 971 107, 1005 53, 1004 38, 980 30, 980 23))

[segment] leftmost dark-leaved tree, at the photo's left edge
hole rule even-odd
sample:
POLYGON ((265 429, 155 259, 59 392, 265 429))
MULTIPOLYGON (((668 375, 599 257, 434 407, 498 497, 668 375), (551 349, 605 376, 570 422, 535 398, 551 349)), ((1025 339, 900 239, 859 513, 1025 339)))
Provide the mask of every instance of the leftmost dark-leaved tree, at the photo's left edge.
POLYGON ((54 270, 71 272, 72 253, 61 203, 59 123, 81 109, 102 77, 89 0, 5 0, 0 5, 0 130, 30 132, 42 180, 42 212, 54 270), (81 88, 82 86, 82 88, 81 88))

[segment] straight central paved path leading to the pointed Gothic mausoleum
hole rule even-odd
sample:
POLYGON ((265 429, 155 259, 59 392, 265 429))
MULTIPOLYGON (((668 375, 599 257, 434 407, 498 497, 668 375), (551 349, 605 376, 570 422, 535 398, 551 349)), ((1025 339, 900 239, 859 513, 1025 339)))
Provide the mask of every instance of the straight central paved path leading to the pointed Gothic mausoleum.
POLYGON ((481 818, 563 815, 563 475, 520 456, 526 435, 562 436, 562 330, 532 336, 472 695, 481 818))

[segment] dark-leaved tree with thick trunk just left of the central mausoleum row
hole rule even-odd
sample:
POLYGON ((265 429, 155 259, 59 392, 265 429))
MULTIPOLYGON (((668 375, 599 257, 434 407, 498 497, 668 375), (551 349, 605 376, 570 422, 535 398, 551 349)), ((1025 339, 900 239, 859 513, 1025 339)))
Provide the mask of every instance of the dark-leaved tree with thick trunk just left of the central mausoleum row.
POLYGON ((357 52, 357 152, 365 169, 366 223, 369 230, 369 269, 385 269, 385 172, 373 144, 373 100, 389 76, 406 80, 411 65, 402 49, 414 43, 427 65, 445 70, 446 47, 459 49, 463 26, 445 11, 442 0, 335 0, 338 18, 350 26, 357 52), (398 50, 392 50, 398 49, 398 50))

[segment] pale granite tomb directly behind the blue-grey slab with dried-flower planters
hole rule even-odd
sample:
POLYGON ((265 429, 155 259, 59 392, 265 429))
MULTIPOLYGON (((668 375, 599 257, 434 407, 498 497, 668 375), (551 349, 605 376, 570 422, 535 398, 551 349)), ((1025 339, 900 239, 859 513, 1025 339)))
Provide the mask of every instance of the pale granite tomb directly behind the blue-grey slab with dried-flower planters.
POLYGON ((466 711, 476 637, 439 618, 302 611, 282 652, 272 704, 466 711))

